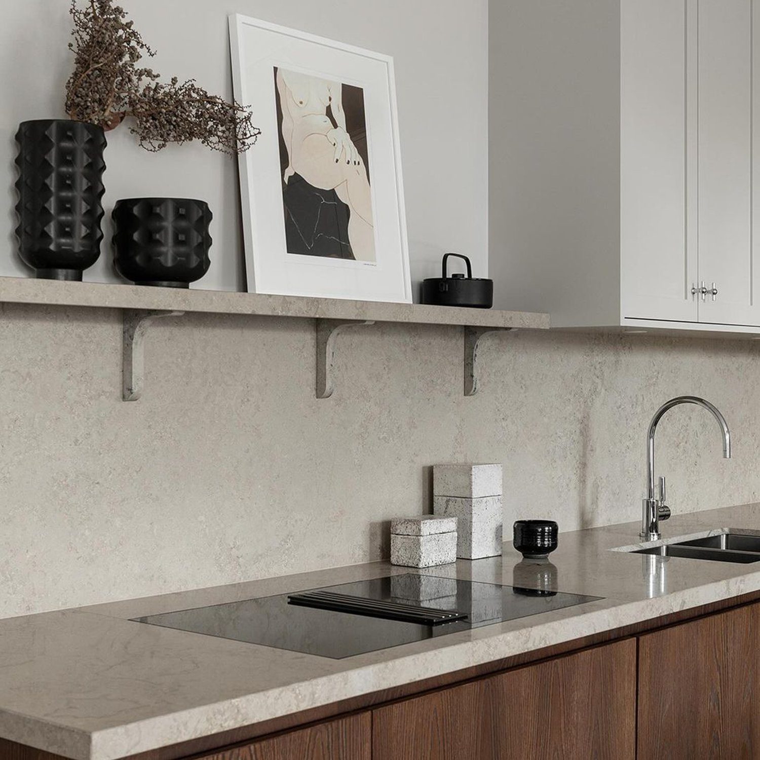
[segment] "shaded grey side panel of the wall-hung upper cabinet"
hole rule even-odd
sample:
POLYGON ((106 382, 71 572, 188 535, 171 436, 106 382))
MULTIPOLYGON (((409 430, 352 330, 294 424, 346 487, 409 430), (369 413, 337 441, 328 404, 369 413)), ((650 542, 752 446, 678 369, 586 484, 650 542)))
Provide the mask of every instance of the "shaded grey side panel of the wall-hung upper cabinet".
POLYGON ((489 35, 494 306, 617 324, 619 2, 494 0, 489 35))

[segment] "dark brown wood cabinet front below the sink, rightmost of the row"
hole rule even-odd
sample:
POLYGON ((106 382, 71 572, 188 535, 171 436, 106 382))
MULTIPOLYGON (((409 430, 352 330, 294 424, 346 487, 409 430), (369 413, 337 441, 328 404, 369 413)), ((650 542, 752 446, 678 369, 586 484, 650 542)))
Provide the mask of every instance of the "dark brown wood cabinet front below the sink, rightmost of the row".
POLYGON ((760 604, 639 638, 638 757, 760 757, 760 604))

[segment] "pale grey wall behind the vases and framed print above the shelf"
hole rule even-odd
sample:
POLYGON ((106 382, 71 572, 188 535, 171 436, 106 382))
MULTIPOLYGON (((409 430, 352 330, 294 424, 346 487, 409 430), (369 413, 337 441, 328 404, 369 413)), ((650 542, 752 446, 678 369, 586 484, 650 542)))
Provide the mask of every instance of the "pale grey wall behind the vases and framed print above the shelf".
MULTIPOLYGON (((414 297, 438 276, 448 250, 466 253, 485 277, 487 255, 487 0, 123 0, 157 50, 165 78, 196 78, 232 97, 226 17, 239 12, 394 56, 414 297)), ((0 26, 0 163, 15 179, 13 135, 24 119, 64 117, 71 71, 67 0, 6 2, 0 26)), ((255 104, 253 104, 255 106, 255 104)), ((214 213, 211 270, 197 287, 245 290, 236 160, 194 144, 150 154, 125 125, 109 132, 109 217, 118 198, 195 196, 214 213)), ((255 150, 255 147, 253 148, 255 150)), ((16 195, 8 182, 0 275, 25 276, 12 230, 16 195)), ((117 281, 110 225, 100 260, 85 279, 117 281)))

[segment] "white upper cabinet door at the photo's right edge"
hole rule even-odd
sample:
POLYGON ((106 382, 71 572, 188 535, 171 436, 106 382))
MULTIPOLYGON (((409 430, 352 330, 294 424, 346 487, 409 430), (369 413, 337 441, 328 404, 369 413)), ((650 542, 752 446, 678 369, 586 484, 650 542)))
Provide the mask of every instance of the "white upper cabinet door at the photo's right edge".
POLYGON ((698 277, 717 288, 714 300, 700 299, 699 321, 760 325, 760 2, 698 2, 698 277))

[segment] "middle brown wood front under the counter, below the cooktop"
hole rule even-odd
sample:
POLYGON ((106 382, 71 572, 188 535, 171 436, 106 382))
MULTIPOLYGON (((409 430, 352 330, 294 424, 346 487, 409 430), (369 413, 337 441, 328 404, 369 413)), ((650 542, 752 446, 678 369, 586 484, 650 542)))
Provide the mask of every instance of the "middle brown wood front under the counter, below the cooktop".
POLYGON ((630 760, 636 642, 558 657, 372 712, 372 760, 630 760))

